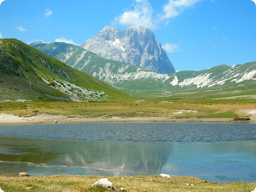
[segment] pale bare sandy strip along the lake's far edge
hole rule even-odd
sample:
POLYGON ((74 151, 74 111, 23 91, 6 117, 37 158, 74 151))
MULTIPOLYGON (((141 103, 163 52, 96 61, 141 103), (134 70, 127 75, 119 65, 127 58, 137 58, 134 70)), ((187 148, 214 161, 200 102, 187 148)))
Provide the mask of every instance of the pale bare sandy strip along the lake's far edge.
POLYGON ((92 122, 194 122, 194 123, 256 123, 255 118, 235 121, 232 118, 175 118, 174 116, 99 116, 55 115, 35 113, 32 116, 16 116, 0 113, 0 125, 54 124, 54 123, 92 123, 92 122))

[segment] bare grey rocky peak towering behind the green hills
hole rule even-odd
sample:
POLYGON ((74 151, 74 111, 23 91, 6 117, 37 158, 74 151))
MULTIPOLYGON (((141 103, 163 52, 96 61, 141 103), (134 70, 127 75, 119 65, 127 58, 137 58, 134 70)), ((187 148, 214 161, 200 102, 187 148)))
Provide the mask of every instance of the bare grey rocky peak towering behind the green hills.
POLYGON ((128 27, 123 31, 106 26, 81 47, 103 58, 134 64, 156 73, 175 73, 154 33, 142 26, 128 27))

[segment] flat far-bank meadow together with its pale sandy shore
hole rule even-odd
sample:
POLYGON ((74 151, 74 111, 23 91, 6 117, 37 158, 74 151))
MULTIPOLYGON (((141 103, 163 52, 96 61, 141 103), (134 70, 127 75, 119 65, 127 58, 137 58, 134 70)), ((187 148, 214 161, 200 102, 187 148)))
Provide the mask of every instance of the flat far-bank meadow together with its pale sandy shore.
POLYGON ((256 122, 252 102, 3 102, 1 124, 67 122, 256 122), (10 118, 15 115, 16 118, 10 118))

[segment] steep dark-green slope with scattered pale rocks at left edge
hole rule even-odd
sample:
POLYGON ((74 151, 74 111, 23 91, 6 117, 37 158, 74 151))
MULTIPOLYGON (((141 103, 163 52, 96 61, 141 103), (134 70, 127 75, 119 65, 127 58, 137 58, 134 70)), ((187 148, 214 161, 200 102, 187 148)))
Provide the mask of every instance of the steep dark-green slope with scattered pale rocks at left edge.
POLYGON ((0 101, 133 100, 16 39, 0 39, 0 101))

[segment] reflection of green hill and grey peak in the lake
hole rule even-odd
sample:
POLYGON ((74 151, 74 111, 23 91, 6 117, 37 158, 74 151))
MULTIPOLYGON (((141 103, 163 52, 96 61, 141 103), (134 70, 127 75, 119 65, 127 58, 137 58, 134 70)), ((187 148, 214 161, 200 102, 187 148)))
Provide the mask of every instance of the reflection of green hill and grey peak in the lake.
POLYGON ((29 162, 47 166, 84 167, 98 172, 112 172, 113 175, 119 175, 120 172, 122 175, 160 173, 171 151, 169 143, 109 143, 0 137, 0 164, 29 162))

